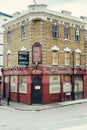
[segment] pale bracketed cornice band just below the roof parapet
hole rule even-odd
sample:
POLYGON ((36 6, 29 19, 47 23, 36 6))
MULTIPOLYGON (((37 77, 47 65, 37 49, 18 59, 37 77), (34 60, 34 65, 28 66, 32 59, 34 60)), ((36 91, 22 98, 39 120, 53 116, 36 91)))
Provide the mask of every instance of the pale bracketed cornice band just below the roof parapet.
POLYGON ((75 19, 70 19, 69 17, 51 14, 48 12, 28 12, 24 15, 21 15, 17 18, 12 19, 10 22, 4 24, 3 26, 5 28, 5 31, 9 29, 13 30, 14 28, 22 26, 23 24, 22 21, 25 21, 24 24, 26 25, 35 19, 39 19, 42 21, 50 22, 50 23, 52 22, 53 19, 55 19, 55 21, 58 21, 57 24, 65 24, 65 22, 67 22, 69 23, 69 26, 74 27, 74 28, 76 27, 76 25, 78 25, 79 28, 82 28, 82 29, 84 29, 86 26, 85 22, 78 21, 75 19))

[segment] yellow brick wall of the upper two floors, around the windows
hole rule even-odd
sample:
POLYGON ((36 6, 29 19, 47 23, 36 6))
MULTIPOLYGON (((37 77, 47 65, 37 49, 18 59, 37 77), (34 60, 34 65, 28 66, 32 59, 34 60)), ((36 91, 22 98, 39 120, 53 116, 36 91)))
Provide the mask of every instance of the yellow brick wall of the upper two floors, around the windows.
MULTIPOLYGON (((32 45, 35 42, 40 42, 42 45, 42 51, 44 51, 44 55, 42 55, 43 65, 52 65, 52 54, 51 47, 56 45, 59 48, 59 66, 65 65, 65 53, 63 52, 64 48, 68 47, 71 50, 75 50, 79 48, 82 52, 84 52, 84 31, 81 31, 80 35, 80 43, 75 42, 75 28, 70 27, 70 40, 64 40, 64 26, 63 24, 58 24, 59 27, 59 38, 53 39, 52 37, 52 23, 45 22, 43 26, 41 23, 45 21, 35 21, 34 24, 26 25, 26 39, 21 39, 21 27, 17 27, 12 29, 12 42, 10 44, 7 43, 7 32, 4 34, 4 66, 7 67, 7 51, 11 50, 11 66, 18 66, 18 51, 24 46, 27 50, 30 51, 30 65, 32 65, 32 45), (30 26, 33 26, 30 29, 30 26), (44 29, 43 29, 44 28, 44 29), (44 31, 44 32, 42 32, 44 31), (31 36, 30 36, 31 34, 31 36), (42 34, 45 39, 43 39, 42 34), (30 42, 31 39, 31 42, 30 42)), ((72 60, 71 60, 72 64, 72 60)), ((81 59, 81 64, 84 65, 84 58, 81 59)))

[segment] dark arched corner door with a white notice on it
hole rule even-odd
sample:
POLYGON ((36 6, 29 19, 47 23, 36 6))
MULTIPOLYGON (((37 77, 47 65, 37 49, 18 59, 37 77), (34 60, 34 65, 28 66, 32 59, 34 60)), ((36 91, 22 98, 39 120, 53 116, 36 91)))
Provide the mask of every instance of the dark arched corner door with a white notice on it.
POLYGON ((32 103, 42 103, 42 80, 40 77, 35 77, 32 83, 32 103))

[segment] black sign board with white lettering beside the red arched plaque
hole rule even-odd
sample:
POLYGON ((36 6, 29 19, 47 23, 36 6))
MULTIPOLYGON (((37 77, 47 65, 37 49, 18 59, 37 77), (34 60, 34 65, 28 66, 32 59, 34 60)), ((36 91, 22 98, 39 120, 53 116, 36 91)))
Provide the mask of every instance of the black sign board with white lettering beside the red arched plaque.
POLYGON ((29 65, 29 51, 18 51, 18 64, 29 65))

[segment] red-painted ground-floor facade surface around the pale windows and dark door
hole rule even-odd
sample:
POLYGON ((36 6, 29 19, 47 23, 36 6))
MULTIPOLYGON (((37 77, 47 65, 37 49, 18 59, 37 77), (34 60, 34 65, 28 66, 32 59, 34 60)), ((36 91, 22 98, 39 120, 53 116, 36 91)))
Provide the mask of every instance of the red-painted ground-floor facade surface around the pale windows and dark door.
MULTIPOLYGON (((79 77, 82 79, 83 89, 81 91, 74 90, 74 94, 76 96, 76 99, 79 98, 87 98, 87 71, 84 69, 75 69, 74 75, 72 76, 72 68, 46 68, 46 67, 38 67, 35 69, 32 68, 12 68, 12 69, 3 69, 2 70, 2 87, 1 87, 1 93, 3 98, 10 97, 12 101, 16 102, 22 102, 26 104, 32 104, 33 102, 33 93, 38 91, 39 85, 36 82, 36 89, 33 91, 33 87, 35 84, 33 84, 33 79, 36 77, 39 77, 42 82, 42 89, 41 89, 41 104, 49 104, 53 102, 61 102, 61 101, 70 101, 72 100, 72 89, 70 92, 67 92, 65 86, 64 90, 64 83, 65 83, 65 75, 68 75, 71 78, 71 86, 72 83, 74 83, 74 89, 77 89, 79 84, 78 79, 79 77), (50 90, 50 76, 57 76, 60 77, 60 92, 59 93, 53 93, 52 90, 50 90), (17 82, 17 89, 16 92, 12 92, 11 90, 11 76, 16 76, 16 82, 17 82), (23 78, 26 79, 26 89, 22 93, 19 92, 19 79, 20 76, 25 76, 23 78), (75 76, 78 77, 78 79, 75 79, 75 76), (74 77, 74 78, 73 78, 74 77), (6 78, 6 79, 5 79, 6 78), (74 80, 74 81, 73 81, 74 80), (77 85, 75 88, 75 84, 77 85), (51 92, 50 92, 51 91, 51 92), (83 93, 83 95, 82 95, 83 93)), ((40 81, 39 81, 40 82, 40 81)), ((67 81, 65 83, 67 84, 67 81)), ((79 86, 81 89, 82 86, 79 86)), ((72 88, 72 87, 71 87, 72 88)), ((68 89, 68 88, 67 88, 68 89)), ((36 93, 38 95, 38 93, 36 93)), ((40 97, 39 97, 40 98, 40 97)), ((75 98, 75 97, 74 97, 75 98)), ((37 101, 36 101, 37 102, 37 101)))

